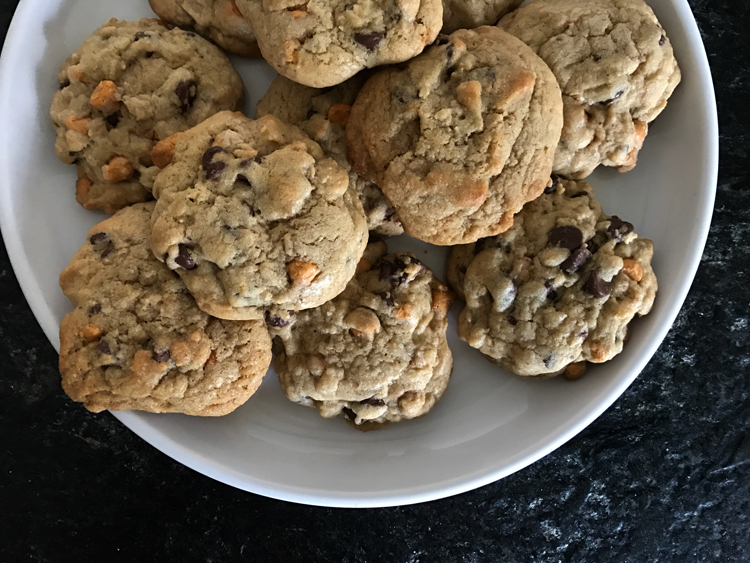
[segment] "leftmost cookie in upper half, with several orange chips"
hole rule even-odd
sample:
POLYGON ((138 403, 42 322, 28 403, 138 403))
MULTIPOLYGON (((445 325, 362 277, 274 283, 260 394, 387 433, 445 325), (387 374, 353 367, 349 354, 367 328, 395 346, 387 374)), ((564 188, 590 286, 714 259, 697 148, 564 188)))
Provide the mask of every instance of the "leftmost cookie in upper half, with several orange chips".
POLYGON ((109 214, 151 199, 159 141, 244 96, 220 49, 158 20, 108 21, 65 61, 59 80, 55 152, 78 168, 78 203, 109 214))

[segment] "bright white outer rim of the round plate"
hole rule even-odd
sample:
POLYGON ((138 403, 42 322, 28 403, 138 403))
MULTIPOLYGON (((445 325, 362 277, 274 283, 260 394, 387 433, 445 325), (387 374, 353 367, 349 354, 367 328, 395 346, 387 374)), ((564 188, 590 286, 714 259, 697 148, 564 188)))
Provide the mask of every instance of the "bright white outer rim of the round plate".
MULTIPOLYGON (((6 107, 9 99, 8 90, 12 86, 11 61, 16 61, 20 48, 19 37, 26 28, 26 22, 34 17, 34 3, 40 0, 21 0, 13 15, 13 19, 8 28, 8 33, 0 57, 0 122, 2 117, 7 115, 9 108, 6 107)), ((578 435, 582 430, 589 426, 602 413, 607 410, 633 383, 638 375, 643 371, 645 366, 651 360, 652 356, 663 342, 668 331, 671 329, 674 321, 682 309, 687 298, 687 294, 692 286, 696 272, 700 265, 703 250, 709 234, 711 219, 713 216, 714 201, 716 196, 718 170, 719 170, 719 128, 718 112, 716 107, 716 95, 711 76, 711 69, 708 63, 705 45, 700 35, 700 31, 693 15, 688 0, 669 0, 674 6, 678 18, 683 24, 685 36, 691 49, 694 51, 693 62, 695 64, 695 74, 700 85, 702 96, 706 99, 706 133, 704 141, 707 143, 707 166, 701 179, 702 190, 702 208, 708 209, 708 213, 702 218, 699 228, 696 229, 698 244, 691 251, 689 260, 685 261, 683 267, 682 283, 676 290, 676 298, 672 301, 668 311, 664 313, 665 321, 654 331, 654 338, 648 347, 647 353, 642 354, 634 360, 634 365, 629 371, 627 377, 623 377, 617 386, 613 387, 609 394, 601 400, 594 408, 578 416, 567 428, 559 432, 553 439, 549 440, 544 446, 534 448, 533 451, 526 453, 513 463, 494 471, 480 471, 479 474, 471 477, 462 476, 452 479, 439 486, 435 484, 426 485, 423 488, 411 489, 409 491, 383 491, 382 493, 326 493, 313 492, 301 487, 290 485, 279 485, 278 483, 268 484, 263 480, 248 478, 247 475, 238 476, 233 470, 222 467, 218 463, 207 463, 207 461, 195 451, 183 444, 177 443, 166 436, 158 428, 152 427, 144 419, 138 417, 134 412, 112 412, 116 419, 143 439, 148 444, 154 446, 162 453, 171 457, 178 463, 185 465, 203 475, 206 475, 219 482, 233 486, 235 488, 260 494, 266 497, 285 500, 300 504, 308 504, 325 507, 340 508, 377 508, 388 506, 401 506, 416 504, 446 498, 456 494, 471 491, 489 483, 498 481, 508 475, 511 475, 521 469, 535 463, 539 459, 547 456, 573 437, 578 435)), ((0 129, 0 171, 9 169, 9 153, 2 150, 6 147, 8 141, 6 134, 0 129)), ((11 190, 7 187, 9 183, 7 174, 0 173, 0 232, 3 234, 3 241, 8 252, 8 257, 13 268, 14 274, 18 281, 23 295, 34 314, 37 323, 41 326, 47 338, 57 349, 58 344, 58 325, 54 319, 51 310, 46 306, 43 292, 39 287, 33 271, 30 267, 29 258, 23 251, 19 240, 9 236, 17 232, 16 218, 9 213, 13 206, 9 204, 12 200, 11 190)))

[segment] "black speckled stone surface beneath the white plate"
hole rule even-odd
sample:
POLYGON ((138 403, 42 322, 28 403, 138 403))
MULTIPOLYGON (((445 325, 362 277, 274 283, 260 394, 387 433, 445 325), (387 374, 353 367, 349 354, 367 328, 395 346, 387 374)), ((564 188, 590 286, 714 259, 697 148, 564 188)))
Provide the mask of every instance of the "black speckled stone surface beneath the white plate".
MULTIPOLYGON (((0 0, 0 32, 15 0, 0 0)), ((750 560, 750 10, 690 0, 719 101, 713 226, 677 323, 602 417, 450 499, 383 510, 269 500, 203 477, 63 395, 0 250, 0 561, 750 560)))

